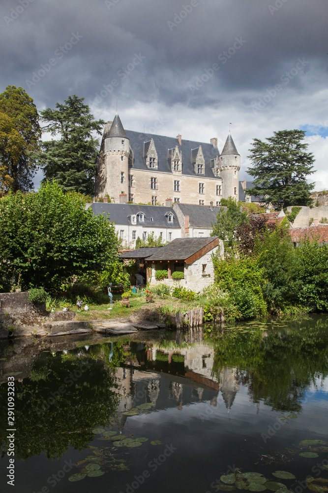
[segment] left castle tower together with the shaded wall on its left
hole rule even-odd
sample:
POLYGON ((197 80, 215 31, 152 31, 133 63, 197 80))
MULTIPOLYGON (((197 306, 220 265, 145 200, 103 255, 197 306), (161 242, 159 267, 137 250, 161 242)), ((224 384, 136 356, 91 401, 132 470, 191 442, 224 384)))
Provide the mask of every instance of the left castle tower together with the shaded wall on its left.
POLYGON ((113 123, 105 125, 99 163, 97 162, 96 196, 106 194, 116 203, 119 196, 129 196, 129 155, 130 140, 128 139, 119 114, 116 112, 113 123))

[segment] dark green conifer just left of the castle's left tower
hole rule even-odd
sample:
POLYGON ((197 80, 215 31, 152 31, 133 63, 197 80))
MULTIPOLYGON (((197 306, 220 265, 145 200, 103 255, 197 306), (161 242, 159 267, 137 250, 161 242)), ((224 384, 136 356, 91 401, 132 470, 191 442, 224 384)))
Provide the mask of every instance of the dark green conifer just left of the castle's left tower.
POLYGON ((41 111, 43 130, 50 131, 59 140, 42 142, 42 151, 35 153, 43 168, 44 180, 55 179, 64 191, 94 195, 95 159, 103 120, 95 121, 84 98, 69 96, 65 104, 56 103, 56 109, 41 111))

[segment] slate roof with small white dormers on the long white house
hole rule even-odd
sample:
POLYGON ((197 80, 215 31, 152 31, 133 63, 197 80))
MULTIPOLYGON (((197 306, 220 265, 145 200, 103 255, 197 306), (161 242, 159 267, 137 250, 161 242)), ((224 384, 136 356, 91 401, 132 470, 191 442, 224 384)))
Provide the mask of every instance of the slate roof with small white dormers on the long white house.
POLYGON ((137 223, 133 226, 146 226, 153 228, 180 228, 179 219, 176 212, 172 207, 165 206, 142 206, 139 204, 112 204, 106 202, 93 202, 90 205, 93 214, 109 214, 107 217, 111 222, 116 224, 131 225, 131 215, 136 215, 138 212, 143 212, 145 214, 145 220, 139 221, 137 217, 137 223), (167 216, 172 212, 173 221, 168 222, 167 216), (152 217, 152 221, 150 218, 152 217))

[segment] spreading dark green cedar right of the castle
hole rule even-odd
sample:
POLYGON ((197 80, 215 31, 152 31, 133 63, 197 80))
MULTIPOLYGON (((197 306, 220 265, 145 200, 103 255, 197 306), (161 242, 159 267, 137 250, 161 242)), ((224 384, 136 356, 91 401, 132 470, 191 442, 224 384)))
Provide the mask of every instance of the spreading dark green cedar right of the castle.
POLYGON ((307 176, 314 173, 313 154, 306 152, 308 144, 302 143, 303 130, 281 130, 262 142, 254 139, 250 155, 253 168, 247 173, 253 176, 254 187, 247 189, 250 195, 260 195, 267 205, 277 209, 288 206, 310 206, 314 183, 307 176))

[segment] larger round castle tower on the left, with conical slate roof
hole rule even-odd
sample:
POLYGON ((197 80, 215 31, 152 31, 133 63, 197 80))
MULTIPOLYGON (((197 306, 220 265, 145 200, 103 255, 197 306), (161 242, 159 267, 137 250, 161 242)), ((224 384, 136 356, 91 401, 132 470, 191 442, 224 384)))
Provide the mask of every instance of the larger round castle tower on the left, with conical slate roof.
POLYGON ((106 170, 104 195, 108 194, 110 198, 114 198, 116 203, 119 203, 120 195, 126 194, 123 200, 121 197, 121 202, 126 202, 129 199, 130 140, 125 133, 118 112, 105 137, 104 153, 106 170))

